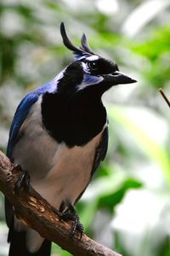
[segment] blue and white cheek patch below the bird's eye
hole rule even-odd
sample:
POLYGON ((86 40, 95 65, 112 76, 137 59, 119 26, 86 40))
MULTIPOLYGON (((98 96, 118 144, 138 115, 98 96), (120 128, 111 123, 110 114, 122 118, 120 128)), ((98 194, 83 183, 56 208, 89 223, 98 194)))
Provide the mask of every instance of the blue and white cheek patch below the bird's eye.
POLYGON ((100 76, 93 76, 90 74, 84 74, 84 78, 82 80, 82 84, 79 84, 77 86, 78 90, 83 90, 84 88, 93 85, 93 84, 99 84, 101 81, 103 81, 103 78, 100 76))

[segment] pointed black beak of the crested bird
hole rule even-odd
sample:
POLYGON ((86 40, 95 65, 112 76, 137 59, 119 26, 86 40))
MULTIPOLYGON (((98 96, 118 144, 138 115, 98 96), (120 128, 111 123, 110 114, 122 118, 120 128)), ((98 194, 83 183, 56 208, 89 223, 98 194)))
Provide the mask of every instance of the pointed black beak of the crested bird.
POLYGON ((132 84, 137 82, 135 79, 131 79, 130 77, 128 77, 127 74, 121 73, 119 71, 116 71, 112 74, 105 74, 103 77, 107 82, 112 83, 112 85, 132 84))

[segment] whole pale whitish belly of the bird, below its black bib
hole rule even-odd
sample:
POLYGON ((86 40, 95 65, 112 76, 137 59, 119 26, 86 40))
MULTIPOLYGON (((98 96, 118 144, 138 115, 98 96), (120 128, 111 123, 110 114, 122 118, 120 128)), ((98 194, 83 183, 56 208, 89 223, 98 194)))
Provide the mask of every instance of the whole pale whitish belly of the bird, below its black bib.
POLYGON ((72 148, 58 144, 47 133, 34 134, 34 139, 23 137, 14 148, 14 164, 30 173, 33 188, 57 209, 64 201, 74 204, 91 178, 101 134, 72 148))

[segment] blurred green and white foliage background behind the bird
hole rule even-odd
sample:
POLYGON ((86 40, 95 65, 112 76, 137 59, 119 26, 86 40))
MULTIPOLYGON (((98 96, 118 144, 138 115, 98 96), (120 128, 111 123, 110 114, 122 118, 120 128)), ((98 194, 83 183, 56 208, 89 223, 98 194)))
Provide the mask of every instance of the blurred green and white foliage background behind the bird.
MULTIPOLYGON (((86 233, 124 256, 169 256, 170 112, 158 91, 170 97, 169 0, 1 0, 0 149, 21 98, 73 60, 61 21, 75 44, 85 32, 96 53, 138 80, 103 97, 110 143, 77 204, 86 233)), ((6 256, 2 194, 0 209, 0 256, 6 256)), ((71 254, 53 245, 57 255, 71 254)))

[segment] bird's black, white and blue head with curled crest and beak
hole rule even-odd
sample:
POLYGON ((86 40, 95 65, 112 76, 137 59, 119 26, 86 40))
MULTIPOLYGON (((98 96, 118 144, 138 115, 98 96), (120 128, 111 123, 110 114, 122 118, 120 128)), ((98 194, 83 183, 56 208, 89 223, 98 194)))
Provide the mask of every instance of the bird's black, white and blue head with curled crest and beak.
POLYGON ((95 54, 89 47, 85 34, 82 34, 82 45, 77 47, 67 37, 64 23, 60 25, 60 32, 63 43, 75 54, 76 60, 65 68, 63 78, 60 80, 59 90, 77 93, 94 88, 102 95, 116 84, 136 82, 127 74, 121 73, 114 61, 106 60, 95 54))

